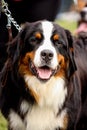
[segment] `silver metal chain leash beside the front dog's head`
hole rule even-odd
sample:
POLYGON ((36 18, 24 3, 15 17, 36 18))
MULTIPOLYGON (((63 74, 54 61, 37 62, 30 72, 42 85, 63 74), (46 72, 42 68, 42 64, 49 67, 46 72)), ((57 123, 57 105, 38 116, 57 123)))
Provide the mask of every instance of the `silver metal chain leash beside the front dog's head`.
POLYGON ((17 22, 12 17, 11 11, 8 9, 8 4, 4 0, 2 0, 2 12, 4 12, 8 18, 7 28, 11 27, 12 23, 15 26, 15 28, 20 32, 22 28, 17 24, 17 22))

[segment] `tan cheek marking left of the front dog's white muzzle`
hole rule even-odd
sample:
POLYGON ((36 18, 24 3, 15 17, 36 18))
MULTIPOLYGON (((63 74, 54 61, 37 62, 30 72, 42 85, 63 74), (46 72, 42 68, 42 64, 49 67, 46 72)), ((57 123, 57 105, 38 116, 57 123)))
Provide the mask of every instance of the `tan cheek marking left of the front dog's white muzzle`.
POLYGON ((26 55, 22 59, 20 59, 20 61, 19 61, 19 73, 21 74, 21 76, 23 76, 24 74, 32 75, 32 73, 29 69, 29 59, 31 59, 33 61, 34 52, 26 53, 26 55))

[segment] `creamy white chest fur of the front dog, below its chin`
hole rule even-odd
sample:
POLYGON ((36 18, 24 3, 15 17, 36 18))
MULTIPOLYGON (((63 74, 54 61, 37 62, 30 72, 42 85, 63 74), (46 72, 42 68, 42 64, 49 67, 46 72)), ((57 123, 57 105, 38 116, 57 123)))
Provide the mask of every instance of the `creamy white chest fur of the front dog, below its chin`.
POLYGON ((55 130, 63 128, 66 110, 58 116, 59 109, 62 108, 66 95, 67 87, 62 78, 52 77, 47 83, 40 83, 35 77, 25 76, 28 87, 32 86, 35 93, 40 96, 26 116, 26 130, 55 130))

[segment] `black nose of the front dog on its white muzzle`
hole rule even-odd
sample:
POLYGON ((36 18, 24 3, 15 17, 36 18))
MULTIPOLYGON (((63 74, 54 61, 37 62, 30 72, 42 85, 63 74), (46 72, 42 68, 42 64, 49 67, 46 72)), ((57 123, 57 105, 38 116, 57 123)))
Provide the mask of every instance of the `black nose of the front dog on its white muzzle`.
POLYGON ((43 50, 41 51, 41 58, 48 62, 49 60, 52 60, 53 58, 53 52, 51 50, 43 50))

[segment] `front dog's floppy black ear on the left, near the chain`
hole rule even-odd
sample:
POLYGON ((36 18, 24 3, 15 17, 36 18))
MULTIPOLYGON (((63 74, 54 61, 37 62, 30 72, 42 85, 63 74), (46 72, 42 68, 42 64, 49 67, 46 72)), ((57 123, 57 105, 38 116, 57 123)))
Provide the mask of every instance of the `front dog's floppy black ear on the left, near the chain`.
POLYGON ((20 56, 20 51, 22 49, 24 38, 26 35, 27 28, 29 29, 30 23, 26 22, 22 30, 18 33, 18 35, 12 40, 12 42, 8 43, 8 57, 13 60, 13 62, 16 61, 16 59, 20 56))

